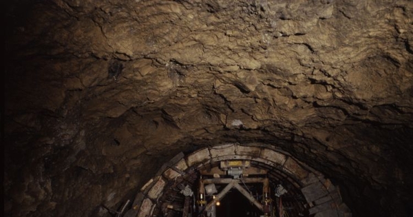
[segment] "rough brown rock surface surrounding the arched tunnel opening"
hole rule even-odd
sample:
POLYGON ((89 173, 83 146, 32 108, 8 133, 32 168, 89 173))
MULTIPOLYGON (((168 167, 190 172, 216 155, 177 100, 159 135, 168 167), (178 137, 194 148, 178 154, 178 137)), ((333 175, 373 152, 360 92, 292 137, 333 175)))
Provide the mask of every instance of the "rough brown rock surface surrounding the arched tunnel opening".
POLYGON ((178 152, 276 145, 412 214, 412 1, 13 1, 6 216, 110 216, 178 152))

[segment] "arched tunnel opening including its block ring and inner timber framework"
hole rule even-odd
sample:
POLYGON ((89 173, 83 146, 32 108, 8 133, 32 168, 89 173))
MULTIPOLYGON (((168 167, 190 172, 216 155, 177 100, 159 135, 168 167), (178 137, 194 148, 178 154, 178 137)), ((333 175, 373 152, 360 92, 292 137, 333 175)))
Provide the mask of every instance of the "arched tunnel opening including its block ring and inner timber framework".
POLYGON ((259 144, 180 153, 162 169, 127 216, 352 216, 323 174, 259 144))

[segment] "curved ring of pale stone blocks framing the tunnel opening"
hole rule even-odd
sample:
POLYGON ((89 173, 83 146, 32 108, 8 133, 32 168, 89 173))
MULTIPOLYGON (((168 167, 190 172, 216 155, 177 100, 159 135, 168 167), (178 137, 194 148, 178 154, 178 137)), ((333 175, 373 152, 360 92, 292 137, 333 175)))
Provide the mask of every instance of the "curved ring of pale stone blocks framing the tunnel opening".
POLYGON ((283 180, 294 186, 292 194, 300 194, 305 198, 301 205, 310 216, 352 216, 350 209, 343 203, 339 188, 323 174, 287 152, 257 143, 203 147, 187 155, 181 152, 165 163, 156 176, 140 189, 125 216, 153 216, 154 211, 161 209, 160 198, 165 196, 165 192, 180 183, 188 183, 188 177, 194 176, 199 169, 233 159, 249 160, 255 167, 271 169, 268 173, 271 182, 283 180))

